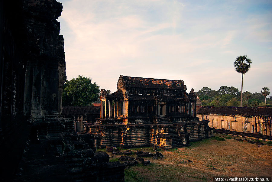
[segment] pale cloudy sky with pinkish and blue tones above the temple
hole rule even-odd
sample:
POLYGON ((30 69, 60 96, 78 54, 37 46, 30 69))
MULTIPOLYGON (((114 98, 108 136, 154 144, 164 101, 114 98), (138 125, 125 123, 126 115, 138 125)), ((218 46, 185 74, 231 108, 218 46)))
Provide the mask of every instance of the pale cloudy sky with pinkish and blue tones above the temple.
MULTIPOLYGON (((58 0, 67 80, 116 91, 120 75, 241 90, 236 57, 251 68, 243 92, 272 92, 272 1, 58 0)), ((271 94, 270 94, 271 95, 271 94)))

